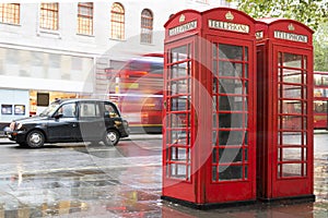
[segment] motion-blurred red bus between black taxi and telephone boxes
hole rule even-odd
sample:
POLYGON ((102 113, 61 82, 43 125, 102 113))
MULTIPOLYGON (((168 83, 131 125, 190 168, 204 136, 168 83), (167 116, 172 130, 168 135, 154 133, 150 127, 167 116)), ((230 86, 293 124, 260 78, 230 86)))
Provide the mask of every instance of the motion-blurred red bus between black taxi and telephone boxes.
POLYGON ((162 133, 163 61, 163 55, 145 55, 108 74, 109 99, 118 105, 132 132, 162 133))

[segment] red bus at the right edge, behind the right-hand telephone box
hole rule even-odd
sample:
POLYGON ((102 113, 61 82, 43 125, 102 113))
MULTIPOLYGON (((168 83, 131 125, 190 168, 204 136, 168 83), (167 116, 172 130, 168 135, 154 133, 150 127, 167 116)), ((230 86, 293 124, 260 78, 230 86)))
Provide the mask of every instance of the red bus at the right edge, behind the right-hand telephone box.
POLYGON ((328 130, 328 72, 314 72, 314 129, 328 130))

